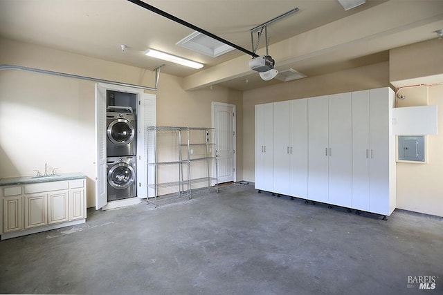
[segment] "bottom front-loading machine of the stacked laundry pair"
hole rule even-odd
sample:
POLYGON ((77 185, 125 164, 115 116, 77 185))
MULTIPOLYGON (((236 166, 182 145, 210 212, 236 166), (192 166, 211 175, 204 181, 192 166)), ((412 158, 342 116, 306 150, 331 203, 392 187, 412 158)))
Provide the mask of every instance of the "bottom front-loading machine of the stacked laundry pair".
POLYGON ((137 196, 136 157, 107 158, 108 201, 137 196))

